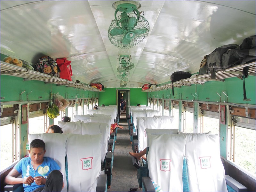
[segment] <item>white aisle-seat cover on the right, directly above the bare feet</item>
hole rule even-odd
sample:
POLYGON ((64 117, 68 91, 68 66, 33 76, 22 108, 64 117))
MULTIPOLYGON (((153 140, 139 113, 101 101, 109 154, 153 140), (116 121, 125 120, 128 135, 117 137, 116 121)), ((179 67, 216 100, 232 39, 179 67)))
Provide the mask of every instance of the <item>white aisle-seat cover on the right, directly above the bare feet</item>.
POLYGON ((137 117, 136 132, 138 136, 139 152, 147 147, 146 128, 157 129, 158 119, 152 117, 137 117))

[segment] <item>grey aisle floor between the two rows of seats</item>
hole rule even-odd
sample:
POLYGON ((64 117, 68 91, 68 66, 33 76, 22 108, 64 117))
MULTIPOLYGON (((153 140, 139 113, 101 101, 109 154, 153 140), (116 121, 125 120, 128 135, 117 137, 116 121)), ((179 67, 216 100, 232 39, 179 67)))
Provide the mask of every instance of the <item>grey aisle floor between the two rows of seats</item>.
POLYGON ((124 129, 118 129, 116 148, 114 152, 113 172, 111 187, 108 191, 129 191, 130 188, 139 188, 137 180, 137 169, 132 165, 132 158, 129 152, 132 151, 132 144, 129 137, 129 129, 126 120, 119 121, 124 129))

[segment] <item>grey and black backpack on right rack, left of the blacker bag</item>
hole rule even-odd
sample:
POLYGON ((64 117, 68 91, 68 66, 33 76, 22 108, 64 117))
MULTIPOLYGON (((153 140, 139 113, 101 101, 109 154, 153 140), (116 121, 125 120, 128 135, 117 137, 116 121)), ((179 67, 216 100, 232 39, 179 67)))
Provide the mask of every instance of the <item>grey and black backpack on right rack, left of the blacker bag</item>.
POLYGON ((238 55, 239 45, 228 44, 216 48, 208 55, 207 68, 211 71, 211 78, 216 78, 216 71, 226 69, 233 65, 240 65, 240 59, 238 55))

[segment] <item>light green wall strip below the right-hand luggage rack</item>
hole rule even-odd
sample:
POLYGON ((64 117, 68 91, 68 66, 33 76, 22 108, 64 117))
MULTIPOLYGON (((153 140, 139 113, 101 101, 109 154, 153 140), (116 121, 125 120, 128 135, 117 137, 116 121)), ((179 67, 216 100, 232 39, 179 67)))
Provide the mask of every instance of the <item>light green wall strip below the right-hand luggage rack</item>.
POLYGON ((194 100, 195 92, 197 92, 198 100, 200 101, 224 101, 225 95, 221 93, 222 91, 226 91, 228 98, 226 102, 229 103, 248 103, 255 104, 255 76, 249 76, 245 79, 246 86, 246 95, 247 98, 251 99, 251 101, 244 101, 243 96, 243 81, 238 79, 237 77, 232 77, 225 79, 225 82, 218 81, 210 81, 205 82, 203 84, 192 84, 189 86, 182 86, 181 88, 174 88, 174 96, 172 96, 172 89, 158 91, 158 92, 148 92, 148 97, 155 98, 163 98, 161 96, 164 95, 164 99, 169 99, 169 95, 171 95, 171 99, 179 99, 180 95, 182 95, 182 100, 194 100), (220 96, 216 93, 218 92, 222 98, 220 100, 220 96), (158 96, 157 96, 158 95, 158 96), (193 96, 194 95, 194 96, 193 96))

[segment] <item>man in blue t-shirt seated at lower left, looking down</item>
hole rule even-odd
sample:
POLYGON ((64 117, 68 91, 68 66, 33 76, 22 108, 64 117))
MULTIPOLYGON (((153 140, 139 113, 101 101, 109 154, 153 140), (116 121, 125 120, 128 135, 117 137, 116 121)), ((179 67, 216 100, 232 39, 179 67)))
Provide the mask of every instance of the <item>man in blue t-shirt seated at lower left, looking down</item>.
POLYGON ((45 143, 35 139, 30 143, 30 157, 22 158, 5 177, 6 184, 23 183, 24 191, 61 191, 64 187, 60 166, 44 157, 45 143), (22 178, 17 178, 19 175, 22 178))

